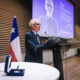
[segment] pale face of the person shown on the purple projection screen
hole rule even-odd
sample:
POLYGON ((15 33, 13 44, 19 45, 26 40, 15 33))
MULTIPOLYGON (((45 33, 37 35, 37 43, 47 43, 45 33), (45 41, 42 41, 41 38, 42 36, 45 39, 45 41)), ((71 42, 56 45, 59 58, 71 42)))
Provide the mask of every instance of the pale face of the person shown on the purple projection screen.
POLYGON ((52 16, 52 14, 53 14, 53 3, 52 3, 52 0, 46 0, 45 8, 46 8, 47 16, 52 16))

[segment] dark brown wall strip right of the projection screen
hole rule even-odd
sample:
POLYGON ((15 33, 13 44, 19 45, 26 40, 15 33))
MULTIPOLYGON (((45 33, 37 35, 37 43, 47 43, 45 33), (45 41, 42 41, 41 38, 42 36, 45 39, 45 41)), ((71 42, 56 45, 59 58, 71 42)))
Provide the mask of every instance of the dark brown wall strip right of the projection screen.
POLYGON ((80 40, 80 6, 74 7, 74 37, 80 40))

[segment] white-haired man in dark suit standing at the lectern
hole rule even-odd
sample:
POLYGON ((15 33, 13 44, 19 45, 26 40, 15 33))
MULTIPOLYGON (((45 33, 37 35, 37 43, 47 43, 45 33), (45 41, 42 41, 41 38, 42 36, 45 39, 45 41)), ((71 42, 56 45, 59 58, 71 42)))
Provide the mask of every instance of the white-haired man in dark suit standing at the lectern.
POLYGON ((31 30, 25 35, 25 61, 42 63, 42 43, 38 35, 40 23, 36 19, 31 19, 29 27, 31 30))

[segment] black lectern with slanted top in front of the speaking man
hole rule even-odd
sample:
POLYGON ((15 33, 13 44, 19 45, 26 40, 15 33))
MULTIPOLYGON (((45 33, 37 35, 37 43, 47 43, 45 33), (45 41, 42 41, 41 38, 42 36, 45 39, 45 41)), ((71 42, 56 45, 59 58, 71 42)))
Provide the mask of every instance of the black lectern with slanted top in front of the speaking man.
POLYGON ((46 44, 44 45, 44 49, 52 49, 54 67, 56 67, 60 71, 59 80, 64 80, 61 47, 63 45, 68 46, 66 44, 67 44, 67 39, 60 37, 53 37, 49 38, 46 44))

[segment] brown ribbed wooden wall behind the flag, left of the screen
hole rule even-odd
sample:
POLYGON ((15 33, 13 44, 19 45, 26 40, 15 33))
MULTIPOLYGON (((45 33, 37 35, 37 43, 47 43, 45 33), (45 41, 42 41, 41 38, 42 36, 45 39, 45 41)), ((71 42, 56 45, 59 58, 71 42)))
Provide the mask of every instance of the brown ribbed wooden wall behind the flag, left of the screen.
POLYGON ((22 54, 25 54, 25 33, 32 15, 31 0, 0 0, 0 62, 5 61, 11 38, 14 16, 17 17, 22 54))

